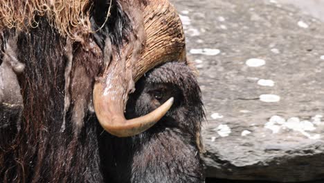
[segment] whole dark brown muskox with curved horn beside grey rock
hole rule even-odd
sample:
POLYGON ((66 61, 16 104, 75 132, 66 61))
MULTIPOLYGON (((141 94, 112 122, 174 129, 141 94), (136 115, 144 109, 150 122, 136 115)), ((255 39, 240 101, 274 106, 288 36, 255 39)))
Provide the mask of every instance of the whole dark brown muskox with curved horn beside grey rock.
POLYGON ((0 182, 204 182, 167 0, 3 0, 0 38, 0 182))

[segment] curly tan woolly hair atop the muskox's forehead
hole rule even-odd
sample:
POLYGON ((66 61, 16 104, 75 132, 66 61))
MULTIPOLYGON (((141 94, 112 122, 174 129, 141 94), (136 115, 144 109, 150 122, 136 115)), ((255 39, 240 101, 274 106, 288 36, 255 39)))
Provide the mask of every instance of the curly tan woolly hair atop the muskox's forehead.
POLYGON ((37 26, 37 16, 46 16, 61 35, 72 38, 91 31, 91 0, 1 0, 0 30, 26 30, 37 26))

